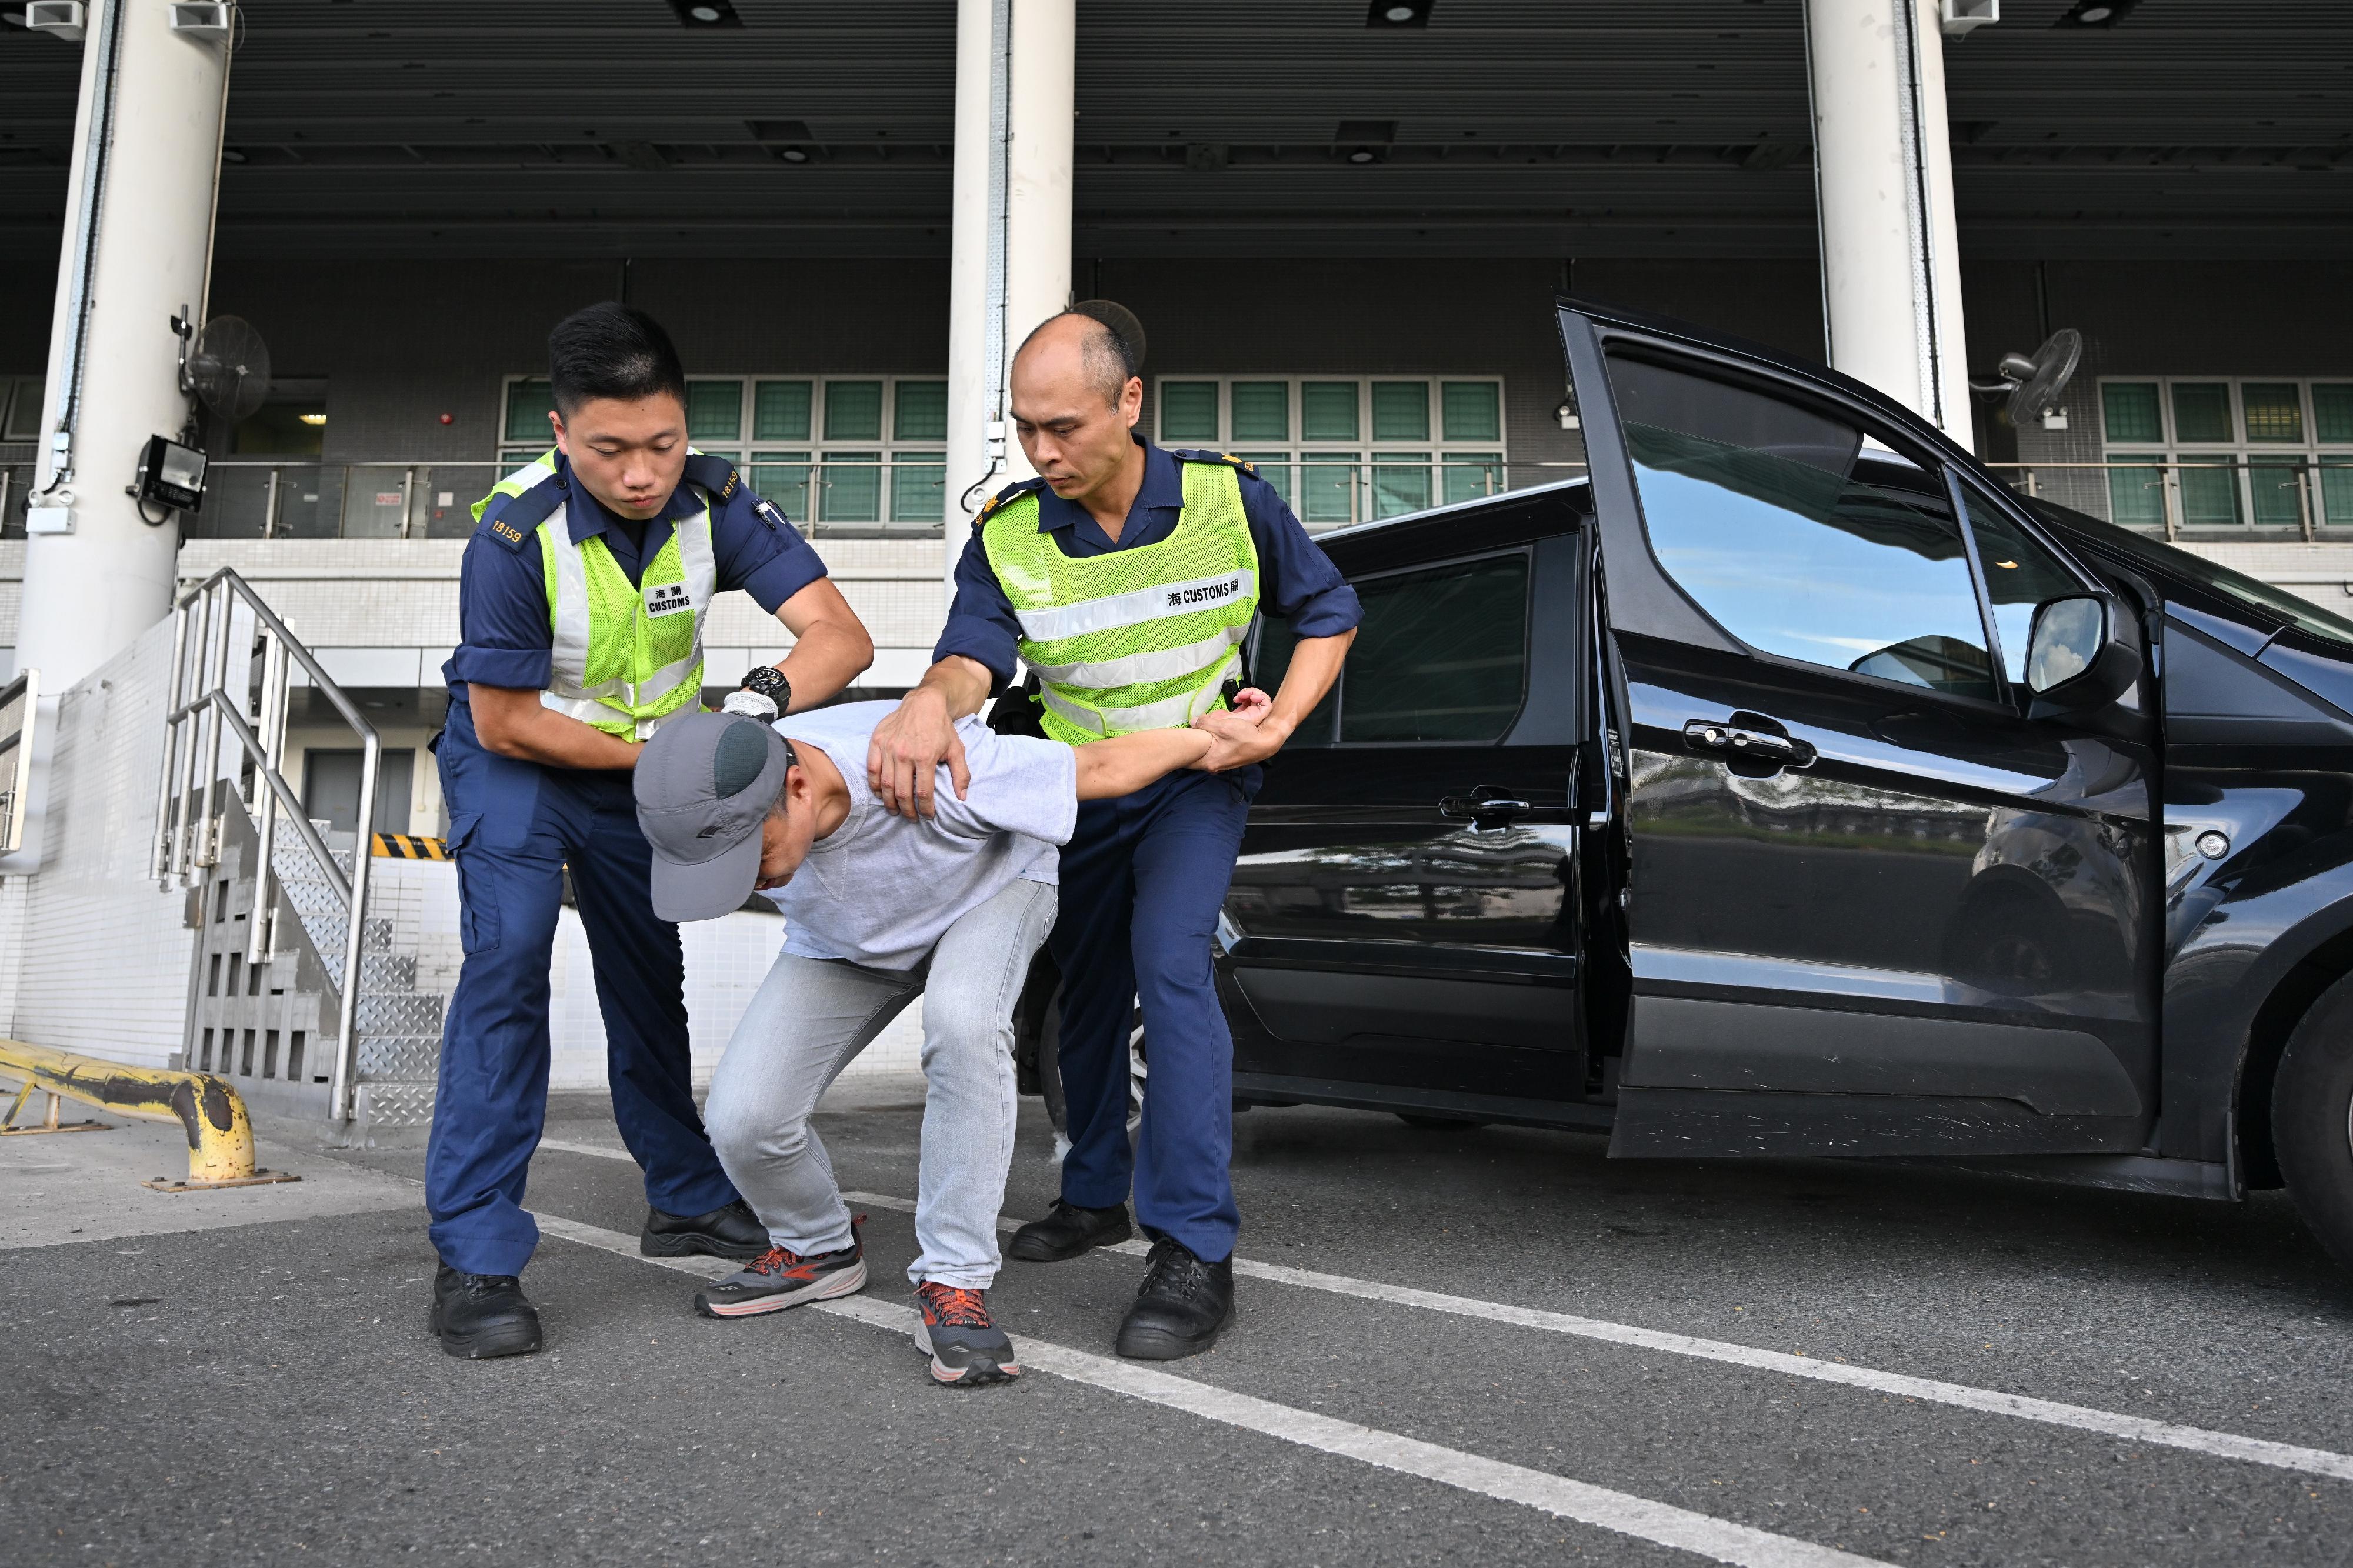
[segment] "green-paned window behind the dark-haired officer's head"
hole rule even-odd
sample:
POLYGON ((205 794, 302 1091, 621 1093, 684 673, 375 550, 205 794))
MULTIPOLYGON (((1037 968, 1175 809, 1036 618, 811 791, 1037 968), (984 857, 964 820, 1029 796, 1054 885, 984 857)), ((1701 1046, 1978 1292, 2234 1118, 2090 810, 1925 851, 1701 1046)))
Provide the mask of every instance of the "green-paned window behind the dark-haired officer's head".
MULTIPOLYGON (((546 377, 508 377, 499 461, 548 450, 546 377)), ((918 377, 687 377, 687 440, 744 469, 793 523, 946 516, 948 384, 918 377)))

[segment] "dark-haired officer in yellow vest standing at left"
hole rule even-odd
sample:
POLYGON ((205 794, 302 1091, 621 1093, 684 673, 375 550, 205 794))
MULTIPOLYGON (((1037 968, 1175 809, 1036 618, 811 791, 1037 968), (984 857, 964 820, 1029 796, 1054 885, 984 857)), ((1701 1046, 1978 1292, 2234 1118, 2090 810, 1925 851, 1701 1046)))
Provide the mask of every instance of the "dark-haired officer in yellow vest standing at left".
POLYGON ((793 652, 744 685, 779 711, 873 662, 859 617, 774 506, 687 447, 687 379, 654 318, 621 304, 548 337, 555 450, 499 480, 459 577, 438 756, 466 961, 442 1026, 426 1151, 452 1356, 539 1349, 515 1278, 539 1241, 522 1184, 548 1097, 548 958, 565 866, 605 1015, 612 1109, 645 1168, 652 1255, 758 1257, 767 1234, 727 1182, 687 1078, 678 928, 647 890, 631 770, 701 711, 711 598, 744 589, 793 652))

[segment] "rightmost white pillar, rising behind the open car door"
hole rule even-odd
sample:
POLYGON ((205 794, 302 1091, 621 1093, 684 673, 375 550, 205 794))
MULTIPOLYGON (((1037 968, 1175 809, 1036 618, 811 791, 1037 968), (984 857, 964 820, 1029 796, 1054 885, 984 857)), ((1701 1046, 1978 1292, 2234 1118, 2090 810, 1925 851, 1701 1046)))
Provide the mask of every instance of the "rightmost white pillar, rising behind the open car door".
POLYGON ((1937 0, 1807 0, 1831 365, 1972 445, 1937 0))

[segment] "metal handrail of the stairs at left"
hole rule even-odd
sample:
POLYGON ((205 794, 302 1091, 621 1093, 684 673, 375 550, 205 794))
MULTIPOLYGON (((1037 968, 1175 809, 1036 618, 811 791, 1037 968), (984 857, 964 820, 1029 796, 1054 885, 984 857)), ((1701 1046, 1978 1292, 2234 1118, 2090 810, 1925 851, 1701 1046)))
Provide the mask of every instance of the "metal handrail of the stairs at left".
POLYGON ((271 888, 271 857, 278 848, 278 810, 285 808, 296 836, 318 862, 327 888, 344 899, 344 979, 336 986, 336 1055, 327 1088, 327 1114, 351 1121, 353 1083, 360 1043, 360 949, 367 935, 367 831, 376 819, 376 763, 384 742, 360 709, 344 695, 318 657, 287 631, 287 624, 254 593, 233 567, 221 567, 172 607, 172 683, 165 687, 165 765, 155 786, 155 843, 151 873, 169 885, 184 885, 198 866, 219 862, 219 786, 221 739, 238 742, 252 763, 254 784, 245 800, 259 831, 254 855, 254 913, 247 925, 247 961, 273 954, 278 897, 271 888), (238 610, 252 612, 252 638, 238 662, 238 610), (191 645, 191 626, 195 638, 191 645), (254 690, 254 645, 261 652, 259 735, 249 723, 254 690), (193 647, 193 659, 191 659, 193 647), (360 737, 360 836, 353 845, 351 876, 334 862, 327 841, 311 824, 301 796, 287 784, 278 763, 287 735, 287 659, 311 676, 311 685, 334 704, 334 711, 360 737), (238 671, 231 692, 231 671, 238 671), (193 732, 193 735, 191 735, 193 732), (200 800, 198 800, 200 798, 200 800))

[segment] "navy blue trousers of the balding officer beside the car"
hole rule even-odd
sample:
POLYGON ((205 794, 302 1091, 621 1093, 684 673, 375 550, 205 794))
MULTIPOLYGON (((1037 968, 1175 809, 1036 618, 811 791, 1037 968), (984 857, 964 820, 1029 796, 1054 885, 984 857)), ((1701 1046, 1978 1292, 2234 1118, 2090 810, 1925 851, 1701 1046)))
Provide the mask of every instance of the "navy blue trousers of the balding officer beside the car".
POLYGON ((1233 883, 1259 770, 1172 772, 1115 800, 1080 800, 1061 852, 1061 1092, 1071 1154, 1061 1196, 1136 1198, 1151 1236, 1205 1262, 1233 1255, 1233 1031, 1209 942, 1233 883), (1127 1034, 1144 1008, 1144 1128, 1127 1144, 1127 1034))

